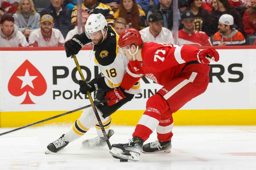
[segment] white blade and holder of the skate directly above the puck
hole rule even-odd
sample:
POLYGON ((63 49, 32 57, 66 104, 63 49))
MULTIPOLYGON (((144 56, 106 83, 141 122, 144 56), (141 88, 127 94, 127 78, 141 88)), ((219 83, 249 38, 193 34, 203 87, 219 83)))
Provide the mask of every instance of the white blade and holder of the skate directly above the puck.
POLYGON ((131 155, 124 155, 122 149, 115 148, 115 147, 113 147, 109 151, 109 153, 111 153, 112 155, 114 155, 116 157, 119 157, 121 159, 128 159, 128 160, 131 160, 131 161, 138 161, 138 160, 140 160, 140 158, 139 158, 140 154, 139 153, 130 151, 129 153, 131 155))

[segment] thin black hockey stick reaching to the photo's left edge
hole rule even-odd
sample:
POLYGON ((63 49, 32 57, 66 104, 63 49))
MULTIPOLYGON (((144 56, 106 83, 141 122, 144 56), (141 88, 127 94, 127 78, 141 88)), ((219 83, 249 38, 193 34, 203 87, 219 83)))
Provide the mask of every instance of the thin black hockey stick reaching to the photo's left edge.
MULTIPOLYGON (((95 105, 98 105, 98 104, 100 104, 100 103, 104 103, 104 102, 106 102, 106 101, 108 101, 108 100, 109 100, 109 99, 105 99, 105 100, 99 101, 99 102, 95 103, 95 105)), ((94 105, 94 104, 93 104, 93 105, 94 105)), ((41 121, 38 121, 38 122, 35 122, 35 123, 31 123, 31 124, 22 126, 22 127, 20 127, 20 128, 17 128, 17 129, 12 129, 12 130, 9 130, 9 131, 7 131, 7 132, 0 133, 0 136, 1 136, 1 135, 4 135, 4 134, 7 134, 7 133, 14 132, 14 131, 16 131, 16 130, 20 130, 20 129, 23 129, 23 128, 27 128, 27 127, 29 127, 29 126, 36 125, 36 124, 39 124, 39 123, 42 123, 42 122, 46 122, 46 121, 55 119, 55 118, 60 117, 60 116, 68 115, 68 114, 70 114, 70 113, 74 113, 74 112, 76 112, 76 111, 78 111, 78 110, 83 110, 83 109, 88 108, 88 107, 91 107, 91 106, 92 106, 92 105, 87 105, 87 106, 84 106, 84 107, 80 107, 80 108, 77 108, 77 109, 75 109, 75 110, 71 110, 71 111, 69 111, 69 112, 62 113, 62 114, 60 114, 60 115, 56 115, 56 116, 53 116, 53 117, 50 117, 50 118, 47 118, 47 119, 44 119, 44 120, 41 120, 41 121)))

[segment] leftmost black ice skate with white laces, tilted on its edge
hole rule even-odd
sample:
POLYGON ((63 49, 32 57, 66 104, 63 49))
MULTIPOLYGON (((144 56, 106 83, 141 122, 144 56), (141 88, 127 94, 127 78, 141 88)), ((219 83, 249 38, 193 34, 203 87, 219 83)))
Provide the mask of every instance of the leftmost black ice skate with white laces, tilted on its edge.
POLYGON ((65 138, 65 134, 63 134, 59 139, 56 141, 48 144, 47 149, 48 151, 45 152, 45 154, 49 154, 51 152, 57 153, 60 150, 64 149, 68 145, 68 141, 65 138))

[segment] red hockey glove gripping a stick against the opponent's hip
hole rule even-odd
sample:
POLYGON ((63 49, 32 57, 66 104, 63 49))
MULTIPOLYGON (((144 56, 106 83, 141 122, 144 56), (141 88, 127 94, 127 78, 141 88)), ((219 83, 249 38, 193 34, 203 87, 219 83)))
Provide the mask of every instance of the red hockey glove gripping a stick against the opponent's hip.
POLYGON ((108 101, 108 106, 112 106, 116 104, 118 101, 123 100, 126 97, 122 92, 122 89, 120 87, 117 87, 107 92, 105 99, 108 99, 108 98, 110 99, 108 101))

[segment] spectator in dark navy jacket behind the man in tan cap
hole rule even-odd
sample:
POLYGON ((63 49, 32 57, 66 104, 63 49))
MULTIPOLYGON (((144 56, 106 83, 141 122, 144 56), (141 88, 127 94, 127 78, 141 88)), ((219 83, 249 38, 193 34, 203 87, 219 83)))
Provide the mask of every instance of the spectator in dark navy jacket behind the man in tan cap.
POLYGON ((40 12, 42 17, 45 14, 51 15, 54 21, 54 28, 60 30, 64 37, 67 36, 68 32, 74 28, 71 26, 71 10, 61 7, 64 0, 51 0, 52 4, 40 12))

